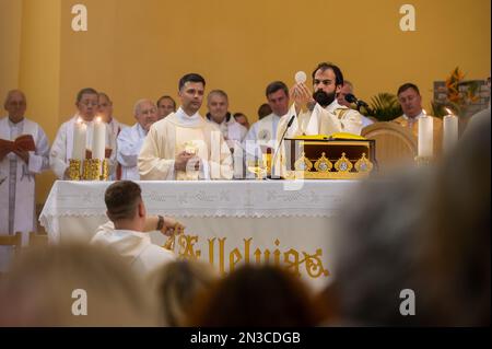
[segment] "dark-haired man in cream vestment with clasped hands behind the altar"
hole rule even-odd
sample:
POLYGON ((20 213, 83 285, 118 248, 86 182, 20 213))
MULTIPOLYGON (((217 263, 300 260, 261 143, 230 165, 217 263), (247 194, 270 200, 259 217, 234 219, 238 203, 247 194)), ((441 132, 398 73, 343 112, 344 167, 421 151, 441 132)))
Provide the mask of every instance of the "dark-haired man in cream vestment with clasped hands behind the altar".
POLYGON ((232 156, 220 129, 199 114, 204 79, 195 73, 179 81, 181 106, 153 124, 138 164, 141 179, 231 179, 232 156))

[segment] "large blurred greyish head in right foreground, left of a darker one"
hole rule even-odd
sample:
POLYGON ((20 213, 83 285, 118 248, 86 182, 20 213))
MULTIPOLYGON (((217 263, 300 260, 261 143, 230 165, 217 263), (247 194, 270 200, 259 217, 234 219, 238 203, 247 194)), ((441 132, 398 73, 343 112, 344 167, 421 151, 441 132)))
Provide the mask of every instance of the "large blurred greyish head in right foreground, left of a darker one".
MULTIPOLYGON (((360 184, 348 198, 333 230, 329 305, 335 323, 348 326, 414 325, 417 316, 400 313, 402 290, 417 293, 417 254, 427 168, 406 170, 360 184)), ((418 302, 419 303, 419 302, 418 302)))

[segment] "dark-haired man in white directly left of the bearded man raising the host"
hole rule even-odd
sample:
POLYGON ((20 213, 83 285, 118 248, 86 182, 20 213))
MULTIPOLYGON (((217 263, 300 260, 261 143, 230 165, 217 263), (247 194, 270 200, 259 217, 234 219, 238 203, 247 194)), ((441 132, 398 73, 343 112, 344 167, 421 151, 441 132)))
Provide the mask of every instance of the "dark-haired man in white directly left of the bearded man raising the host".
POLYGON ((289 88, 285 83, 282 81, 269 83, 265 95, 268 101, 267 106, 270 106, 271 113, 253 124, 246 135, 243 141, 244 148, 246 149, 246 162, 248 160, 261 159, 262 153, 268 148, 272 152, 276 147, 277 128, 280 118, 289 112, 289 88))

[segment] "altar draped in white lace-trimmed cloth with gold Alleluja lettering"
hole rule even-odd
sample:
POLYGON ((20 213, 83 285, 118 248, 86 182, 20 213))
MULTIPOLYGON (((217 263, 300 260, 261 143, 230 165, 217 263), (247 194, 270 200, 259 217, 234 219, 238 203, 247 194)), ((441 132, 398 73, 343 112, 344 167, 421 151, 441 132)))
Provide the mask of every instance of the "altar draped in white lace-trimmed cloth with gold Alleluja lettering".
MULTIPOLYGON (((107 221, 112 182, 57 181, 39 217, 50 243, 89 242, 107 221)), ((359 181, 138 182, 148 214, 185 224, 174 243, 184 258, 202 259, 222 275, 241 264, 286 268, 315 289, 330 281, 331 233, 340 203, 359 181)), ((151 232, 154 243, 167 240, 151 232)))

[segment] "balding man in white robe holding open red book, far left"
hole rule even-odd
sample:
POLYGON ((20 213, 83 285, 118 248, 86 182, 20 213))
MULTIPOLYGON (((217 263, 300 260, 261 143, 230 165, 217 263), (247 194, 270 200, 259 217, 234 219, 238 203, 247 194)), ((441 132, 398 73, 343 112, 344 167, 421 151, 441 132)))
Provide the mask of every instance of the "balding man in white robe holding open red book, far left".
MULTIPOLYGON (((26 98, 14 90, 7 95, 8 116, 0 118, 0 234, 36 231, 35 175, 49 168, 49 143, 43 128, 24 117, 26 98)), ((10 251, 0 246, 0 271, 10 251)))

